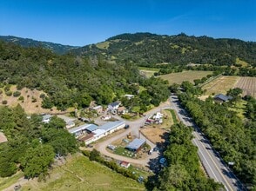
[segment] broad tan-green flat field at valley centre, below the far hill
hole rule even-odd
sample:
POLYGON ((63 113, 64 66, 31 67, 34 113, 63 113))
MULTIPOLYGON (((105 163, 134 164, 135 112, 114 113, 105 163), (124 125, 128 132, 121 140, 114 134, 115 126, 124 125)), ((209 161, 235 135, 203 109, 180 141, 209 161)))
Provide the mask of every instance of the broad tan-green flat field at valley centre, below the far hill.
POLYGON ((179 73, 172 73, 167 75, 161 75, 161 77, 164 80, 167 80, 170 84, 172 83, 178 83, 181 84, 184 81, 189 81, 193 83, 193 80, 195 79, 201 79, 202 77, 205 77, 207 75, 211 75, 212 71, 184 71, 179 73))

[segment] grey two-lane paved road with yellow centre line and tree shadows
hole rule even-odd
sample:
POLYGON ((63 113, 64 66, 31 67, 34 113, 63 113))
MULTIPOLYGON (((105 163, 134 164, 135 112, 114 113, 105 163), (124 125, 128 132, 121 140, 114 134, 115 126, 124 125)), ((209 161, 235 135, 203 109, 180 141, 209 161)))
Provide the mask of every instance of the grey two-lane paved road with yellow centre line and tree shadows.
POLYGON ((221 182, 226 190, 245 190, 239 180, 233 175, 232 171, 226 167, 226 164, 219 157, 219 154, 212 149, 210 142, 205 138, 199 127, 192 121, 192 118, 187 115, 185 109, 182 109, 179 99, 176 95, 170 97, 172 102, 172 109, 175 109, 179 120, 186 126, 192 126, 194 131, 192 135, 194 138, 192 142, 199 150, 199 158, 202 162, 206 173, 214 181, 221 182))

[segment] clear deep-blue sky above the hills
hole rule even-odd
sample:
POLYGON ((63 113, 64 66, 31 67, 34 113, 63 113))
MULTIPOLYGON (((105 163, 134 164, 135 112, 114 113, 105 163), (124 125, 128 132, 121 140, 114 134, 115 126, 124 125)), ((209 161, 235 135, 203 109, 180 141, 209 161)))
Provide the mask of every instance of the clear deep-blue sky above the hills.
POLYGON ((151 32, 256 42, 256 0, 0 0, 0 35, 70 45, 151 32))

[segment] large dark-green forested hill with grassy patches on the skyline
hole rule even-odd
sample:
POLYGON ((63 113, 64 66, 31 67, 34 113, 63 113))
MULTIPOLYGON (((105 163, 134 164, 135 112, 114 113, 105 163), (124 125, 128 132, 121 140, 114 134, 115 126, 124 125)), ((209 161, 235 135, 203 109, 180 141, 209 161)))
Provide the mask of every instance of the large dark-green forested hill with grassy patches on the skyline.
POLYGON ((108 60, 137 63, 139 66, 156 64, 213 64, 228 65, 238 59, 256 65, 256 43, 238 39, 214 39, 207 36, 160 36, 150 33, 113 36, 103 43, 72 50, 77 55, 101 54, 108 60))

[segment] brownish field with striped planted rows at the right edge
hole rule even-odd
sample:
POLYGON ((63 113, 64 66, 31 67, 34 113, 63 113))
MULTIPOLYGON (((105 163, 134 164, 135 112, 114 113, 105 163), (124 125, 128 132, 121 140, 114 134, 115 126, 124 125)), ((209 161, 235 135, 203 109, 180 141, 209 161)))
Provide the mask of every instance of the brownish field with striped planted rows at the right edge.
POLYGON ((234 88, 243 89, 243 95, 256 97, 256 77, 239 77, 234 88))

